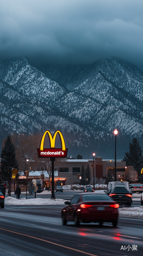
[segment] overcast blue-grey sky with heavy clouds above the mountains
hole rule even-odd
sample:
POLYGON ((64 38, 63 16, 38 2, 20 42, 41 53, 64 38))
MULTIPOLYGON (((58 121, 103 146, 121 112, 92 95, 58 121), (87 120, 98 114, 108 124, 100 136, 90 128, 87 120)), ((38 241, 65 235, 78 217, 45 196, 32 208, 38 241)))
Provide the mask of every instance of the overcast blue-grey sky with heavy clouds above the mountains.
POLYGON ((0 1, 0 56, 35 64, 116 56, 143 70, 143 0, 0 1))

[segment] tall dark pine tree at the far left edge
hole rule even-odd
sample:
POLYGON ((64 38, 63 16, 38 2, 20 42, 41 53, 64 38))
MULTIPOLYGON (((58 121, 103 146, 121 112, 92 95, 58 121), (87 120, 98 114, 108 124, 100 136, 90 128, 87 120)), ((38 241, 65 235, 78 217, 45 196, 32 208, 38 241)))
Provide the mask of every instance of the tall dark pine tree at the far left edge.
POLYGON ((11 196, 12 168, 18 168, 18 162, 16 160, 15 146, 8 135, 1 152, 0 175, 3 182, 8 181, 9 183, 9 196, 11 196))

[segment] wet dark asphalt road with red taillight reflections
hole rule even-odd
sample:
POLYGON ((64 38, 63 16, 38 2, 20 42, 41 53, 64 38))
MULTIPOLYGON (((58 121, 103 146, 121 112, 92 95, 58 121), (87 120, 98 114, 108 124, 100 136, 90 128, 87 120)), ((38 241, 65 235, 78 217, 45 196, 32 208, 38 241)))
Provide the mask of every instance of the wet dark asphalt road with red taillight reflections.
POLYGON ((110 223, 66 226, 63 206, 5 206, 0 209, 1 256, 138 255, 143 251, 143 220, 120 218, 110 223))

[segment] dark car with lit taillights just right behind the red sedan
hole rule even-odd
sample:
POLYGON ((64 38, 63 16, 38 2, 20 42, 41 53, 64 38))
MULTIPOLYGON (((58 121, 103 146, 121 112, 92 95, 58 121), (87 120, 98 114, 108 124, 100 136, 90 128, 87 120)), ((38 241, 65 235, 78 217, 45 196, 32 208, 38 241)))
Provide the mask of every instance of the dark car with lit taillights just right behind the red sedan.
POLYGON ((131 206, 132 195, 129 193, 129 190, 126 188, 112 188, 109 196, 116 201, 118 204, 127 204, 131 206))

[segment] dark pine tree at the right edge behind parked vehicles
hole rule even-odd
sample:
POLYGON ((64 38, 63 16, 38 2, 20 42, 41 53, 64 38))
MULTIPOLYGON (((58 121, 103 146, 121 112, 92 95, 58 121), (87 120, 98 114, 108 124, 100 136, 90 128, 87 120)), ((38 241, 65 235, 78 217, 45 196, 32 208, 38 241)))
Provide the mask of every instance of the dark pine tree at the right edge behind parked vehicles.
POLYGON ((140 175, 142 168, 142 151, 136 138, 133 138, 132 143, 129 143, 129 153, 125 153, 123 161, 126 162, 127 166, 133 166, 138 176, 140 175))

